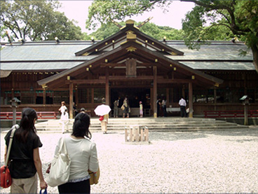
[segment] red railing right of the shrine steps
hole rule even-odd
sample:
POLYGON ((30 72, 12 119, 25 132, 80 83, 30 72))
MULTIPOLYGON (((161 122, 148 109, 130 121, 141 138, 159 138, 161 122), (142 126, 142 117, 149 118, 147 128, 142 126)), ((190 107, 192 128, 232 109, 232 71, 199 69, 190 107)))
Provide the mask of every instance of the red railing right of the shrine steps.
MULTIPOLYGON (((258 117, 258 110, 247 111, 248 117, 258 117)), ((204 111, 205 118, 243 118, 244 111, 204 111)))

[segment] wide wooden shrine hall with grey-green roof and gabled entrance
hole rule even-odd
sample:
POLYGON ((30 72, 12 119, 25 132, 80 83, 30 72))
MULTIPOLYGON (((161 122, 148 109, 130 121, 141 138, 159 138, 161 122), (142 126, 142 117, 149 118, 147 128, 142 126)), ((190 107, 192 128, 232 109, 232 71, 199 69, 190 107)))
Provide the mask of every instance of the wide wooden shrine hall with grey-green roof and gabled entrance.
POLYGON ((73 104, 95 116, 103 98, 112 108, 114 100, 122 103, 128 97, 132 116, 142 101, 156 117, 159 98, 167 100, 168 108, 178 108, 183 96, 193 117, 208 110, 242 109, 243 95, 252 97, 258 109, 252 55, 240 58, 240 48, 246 46, 214 42, 188 50, 182 41, 151 38, 133 20, 102 41, 13 43, 1 51, 1 111, 18 97, 20 109, 57 111, 64 101, 70 118, 73 104))

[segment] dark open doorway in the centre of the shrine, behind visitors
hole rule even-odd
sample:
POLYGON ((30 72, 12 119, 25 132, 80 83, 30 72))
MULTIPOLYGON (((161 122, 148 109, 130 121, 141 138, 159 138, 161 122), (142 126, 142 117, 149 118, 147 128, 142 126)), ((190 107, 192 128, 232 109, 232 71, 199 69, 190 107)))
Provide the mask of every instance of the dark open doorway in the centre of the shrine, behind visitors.
POLYGON ((114 101, 119 100, 119 107, 123 104, 123 99, 128 97, 129 105, 131 108, 139 107, 139 102, 141 101, 144 109, 149 109, 151 107, 151 95, 150 89, 146 88, 114 88, 111 89, 111 108, 114 106, 114 101))

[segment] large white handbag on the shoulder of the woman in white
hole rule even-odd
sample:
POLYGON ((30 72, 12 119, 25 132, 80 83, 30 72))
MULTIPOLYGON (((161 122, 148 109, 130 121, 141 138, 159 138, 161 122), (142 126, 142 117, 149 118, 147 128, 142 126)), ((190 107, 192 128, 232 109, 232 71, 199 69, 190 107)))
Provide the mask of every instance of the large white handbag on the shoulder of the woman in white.
POLYGON ((64 137, 60 139, 59 151, 51 162, 49 176, 46 182, 49 186, 55 187, 67 183, 70 174, 71 159, 67 152, 64 137))

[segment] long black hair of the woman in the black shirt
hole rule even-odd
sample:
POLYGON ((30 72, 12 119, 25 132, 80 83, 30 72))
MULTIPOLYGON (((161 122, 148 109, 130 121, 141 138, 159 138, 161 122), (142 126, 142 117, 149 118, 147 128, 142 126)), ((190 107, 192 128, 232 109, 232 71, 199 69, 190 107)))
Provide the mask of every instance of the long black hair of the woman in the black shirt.
POLYGON ((32 108, 22 109, 22 119, 20 120, 20 127, 17 132, 15 132, 15 137, 18 141, 25 143, 29 132, 32 131, 36 133, 36 127, 34 126, 34 120, 38 119, 36 111, 32 108))

